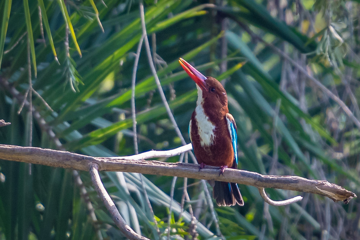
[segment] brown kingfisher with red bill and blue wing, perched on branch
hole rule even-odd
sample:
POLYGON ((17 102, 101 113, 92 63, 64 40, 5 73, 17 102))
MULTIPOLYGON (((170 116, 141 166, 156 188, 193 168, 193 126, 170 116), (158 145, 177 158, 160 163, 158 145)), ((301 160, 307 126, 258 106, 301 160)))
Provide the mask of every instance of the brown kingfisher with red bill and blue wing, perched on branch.
MULTIPOLYGON (((224 87, 213 77, 205 77, 184 59, 179 59, 185 72, 194 80, 198 90, 196 108, 189 124, 189 136, 199 171, 206 165, 238 168, 237 127, 229 113, 228 96, 224 87)), ((219 176, 220 176, 219 174, 219 176)), ((213 198, 219 206, 244 205, 239 187, 233 182, 213 182, 213 198)))

